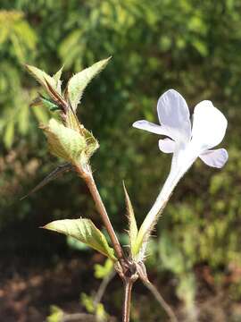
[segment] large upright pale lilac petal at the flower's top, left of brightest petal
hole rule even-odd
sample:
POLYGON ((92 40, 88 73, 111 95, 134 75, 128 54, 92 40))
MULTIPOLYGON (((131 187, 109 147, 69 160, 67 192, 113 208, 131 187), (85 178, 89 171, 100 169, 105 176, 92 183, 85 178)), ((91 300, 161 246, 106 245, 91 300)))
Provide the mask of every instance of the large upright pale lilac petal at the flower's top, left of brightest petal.
POLYGON ((190 140, 191 123, 186 100, 174 89, 159 98, 157 114, 160 123, 169 128, 175 140, 190 140))

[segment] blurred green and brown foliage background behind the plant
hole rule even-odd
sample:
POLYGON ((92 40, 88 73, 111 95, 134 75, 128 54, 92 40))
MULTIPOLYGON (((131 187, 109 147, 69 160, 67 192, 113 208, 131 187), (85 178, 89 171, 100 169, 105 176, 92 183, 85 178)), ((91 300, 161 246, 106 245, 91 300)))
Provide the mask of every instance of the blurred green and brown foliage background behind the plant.
MULTIPOLYGON (((157 122, 157 99, 170 88, 187 98, 191 110, 211 99, 229 119, 221 144, 229 150, 228 164, 217 170, 195 162, 158 223, 147 269, 180 321, 240 321, 239 0, 1 0, 1 319, 45 321, 50 316, 48 321, 56 322, 61 309, 91 311, 91 296, 101 283, 95 265, 104 264, 104 258, 38 229, 57 218, 79 216, 101 227, 84 182, 66 174, 20 201, 59 164, 38 129, 48 112, 29 107, 40 89, 23 64, 50 74, 64 64, 66 81, 110 55, 110 64, 85 92, 79 118, 100 141, 92 166, 123 244, 122 180, 140 225, 170 168, 170 156, 158 150, 158 137, 131 124, 143 118, 157 122)), ((137 284, 131 321, 169 320, 152 296, 137 284)), ((120 299, 115 278, 103 304, 117 320, 120 299)))

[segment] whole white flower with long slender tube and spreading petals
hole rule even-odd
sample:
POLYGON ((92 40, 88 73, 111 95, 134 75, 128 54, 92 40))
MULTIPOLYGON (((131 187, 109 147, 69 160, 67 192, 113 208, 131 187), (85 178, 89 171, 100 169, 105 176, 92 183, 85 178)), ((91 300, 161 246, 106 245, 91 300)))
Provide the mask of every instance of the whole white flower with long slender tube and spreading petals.
POLYGON ((174 89, 166 91, 158 100, 157 114, 161 125, 145 120, 133 123, 137 129, 151 131, 168 138, 159 140, 159 148, 164 153, 173 153, 170 174, 163 185, 139 231, 140 239, 153 227, 179 179, 200 157, 206 165, 220 168, 228 160, 225 148, 212 149, 220 144, 227 129, 227 119, 209 100, 197 104, 190 121, 186 100, 174 89))

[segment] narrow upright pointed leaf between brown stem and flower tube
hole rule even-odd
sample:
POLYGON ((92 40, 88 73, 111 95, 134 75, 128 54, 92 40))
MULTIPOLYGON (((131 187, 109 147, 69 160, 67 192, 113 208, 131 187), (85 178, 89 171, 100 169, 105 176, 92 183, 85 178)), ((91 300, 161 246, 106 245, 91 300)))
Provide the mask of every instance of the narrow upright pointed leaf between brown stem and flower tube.
POLYGON ((136 240, 137 240, 137 222, 134 214, 133 207, 131 205, 131 201, 129 199, 128 191, 126 190, 125 183, 123 182, 123 188, 125 192, 125 199, 126 199, 126 205, 127 205, 127 211, 128 211, 128 219, 129 219, 129 243, 130 243, 130 250, 132 256, 134 256, 137 251, 135 249, 136 240))

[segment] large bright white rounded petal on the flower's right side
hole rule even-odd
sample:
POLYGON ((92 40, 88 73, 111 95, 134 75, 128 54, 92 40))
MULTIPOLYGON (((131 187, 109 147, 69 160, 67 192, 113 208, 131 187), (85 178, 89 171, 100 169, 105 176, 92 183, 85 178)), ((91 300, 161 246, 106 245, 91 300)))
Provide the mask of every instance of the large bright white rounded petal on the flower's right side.
POLYGON ((228 121, 209 100, 197 104, 194 110, 192 141, 201 151, 220 144, 225 135, 228 121))

